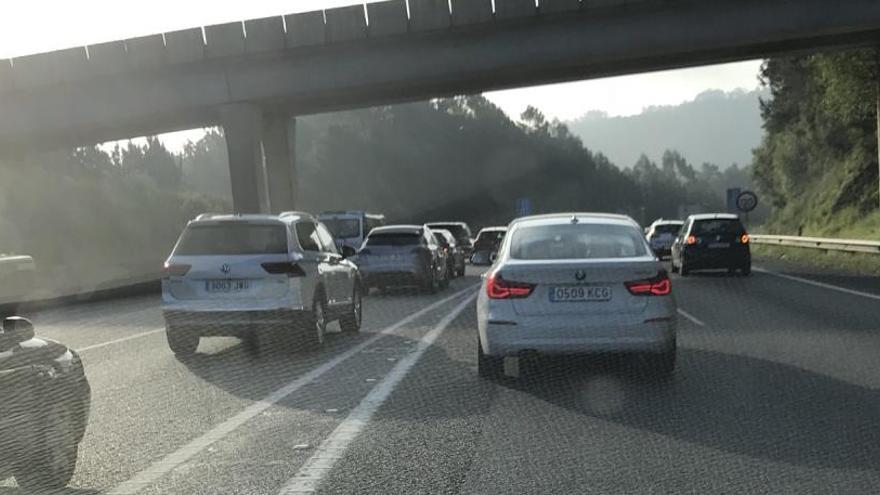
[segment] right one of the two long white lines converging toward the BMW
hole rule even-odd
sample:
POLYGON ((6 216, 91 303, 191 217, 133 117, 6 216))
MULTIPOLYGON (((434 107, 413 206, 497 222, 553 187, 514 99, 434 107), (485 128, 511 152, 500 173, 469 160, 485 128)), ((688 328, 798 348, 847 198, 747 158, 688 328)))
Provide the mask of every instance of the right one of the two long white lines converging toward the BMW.
POLYGON ((321 481, 333 469, 336 461, 342 458, 346 449, 348 449, 361 431, 366 428, 370 419, 379 410, 388 396, 391 395, 391 392, 412 370, 425 351, 434 344, 434 341, 437 340, 440 334, 446 330, 446 327, 473 302, 476 296, 476 294, 472 294, 462 301, 452 312, 443 317, 437 323, 437 326, 422 337, 416 349, 400 360, 391 372, 351 411, 348 417, 333 430, 333 433, 321 442, 321 445, 315 450, 315 454, 284 485, 279 492, 280 495, 315 492, 321 481))

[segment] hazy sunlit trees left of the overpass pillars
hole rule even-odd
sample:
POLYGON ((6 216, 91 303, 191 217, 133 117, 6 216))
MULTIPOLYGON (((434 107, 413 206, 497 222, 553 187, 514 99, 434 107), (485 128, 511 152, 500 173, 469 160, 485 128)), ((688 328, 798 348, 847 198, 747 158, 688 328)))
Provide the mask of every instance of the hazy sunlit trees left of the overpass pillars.
POLYGON ((33 256, 43 295, 156 273, 187 220, 228 208, 185 192, 179 157, 155 138, 0 169, 0 252, 33 256))

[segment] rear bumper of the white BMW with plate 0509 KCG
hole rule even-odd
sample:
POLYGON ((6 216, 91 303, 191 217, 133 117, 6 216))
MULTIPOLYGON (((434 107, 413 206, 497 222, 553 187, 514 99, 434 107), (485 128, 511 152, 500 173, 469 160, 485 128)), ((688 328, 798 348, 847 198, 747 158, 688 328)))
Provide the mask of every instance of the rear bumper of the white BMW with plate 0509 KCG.
POLYGON ((541 322, 488 320, 481 325, 483 352, 511 356, 526 352, 546 355, 601 352, 665 352, 675 346, 675 319, 637 325, 590 327, 541 322))

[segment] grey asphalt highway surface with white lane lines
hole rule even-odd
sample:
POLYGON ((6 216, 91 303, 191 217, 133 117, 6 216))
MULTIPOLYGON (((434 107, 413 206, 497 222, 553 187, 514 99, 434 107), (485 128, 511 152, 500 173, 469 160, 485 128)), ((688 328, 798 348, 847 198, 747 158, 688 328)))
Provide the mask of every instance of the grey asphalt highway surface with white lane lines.
POLYGON ((93 389, 65 493, 876 493, 880 286, 767 268, 674 278, 669 380, 623 357, 479 379, 473 267, 369 297, 361 334, 313 353, 180 361, 158 296, 42 311, 93 389))

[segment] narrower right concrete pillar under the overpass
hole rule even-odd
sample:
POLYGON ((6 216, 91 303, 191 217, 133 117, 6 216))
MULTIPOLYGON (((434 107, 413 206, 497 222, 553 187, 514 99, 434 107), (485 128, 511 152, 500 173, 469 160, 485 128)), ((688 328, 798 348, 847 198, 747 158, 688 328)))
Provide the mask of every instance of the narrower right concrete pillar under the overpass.
POLYGON ((295 131, 296 120, 286 114, 263 116, 263 153, 266 157, 268 211, 271 213, 295 209, 297 183, 292 147, 295 131))

